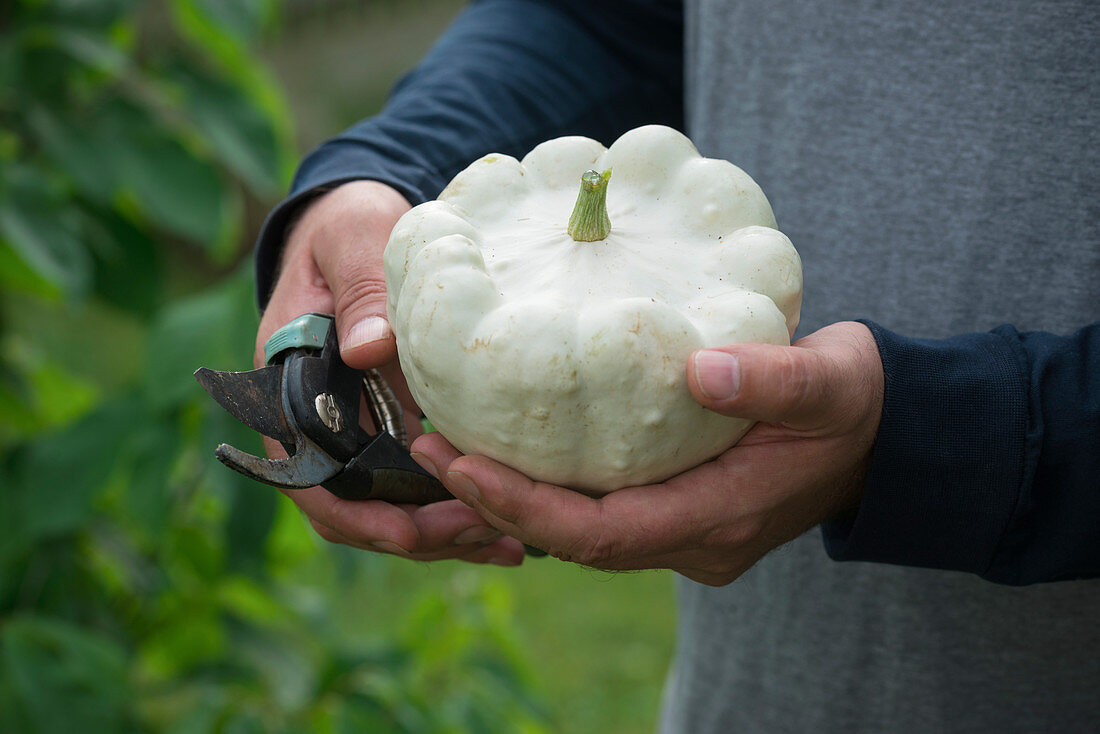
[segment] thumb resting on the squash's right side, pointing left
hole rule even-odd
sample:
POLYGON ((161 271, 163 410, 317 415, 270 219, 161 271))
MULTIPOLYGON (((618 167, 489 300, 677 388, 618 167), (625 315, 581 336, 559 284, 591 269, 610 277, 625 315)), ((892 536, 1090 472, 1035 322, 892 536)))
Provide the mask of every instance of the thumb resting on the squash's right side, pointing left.
POLYGON ((700 350, 688 362, 688 385, 703 407, 791 428, 822 425, 840 381, 833 360, 801 347, 732 344, 700 350))

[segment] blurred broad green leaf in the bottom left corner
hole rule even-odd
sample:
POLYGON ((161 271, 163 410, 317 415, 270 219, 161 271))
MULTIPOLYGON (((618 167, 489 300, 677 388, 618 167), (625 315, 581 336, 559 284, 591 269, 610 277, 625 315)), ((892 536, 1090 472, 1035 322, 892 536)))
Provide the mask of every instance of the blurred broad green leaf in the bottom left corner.
POLYGON ((2 661, 38 732, 121 732, 129 691, 117 645, 66 622, 25 616, 0 632, 2 661))

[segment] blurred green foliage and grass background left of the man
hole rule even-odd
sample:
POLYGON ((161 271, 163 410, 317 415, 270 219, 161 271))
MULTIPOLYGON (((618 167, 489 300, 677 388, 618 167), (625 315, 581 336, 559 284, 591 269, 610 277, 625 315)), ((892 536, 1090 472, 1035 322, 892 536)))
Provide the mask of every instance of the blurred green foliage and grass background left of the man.
POLYGON ((191 377, 455 0, 0 2, 0 732, 645 732, 672 579, 330 546, 191 377))

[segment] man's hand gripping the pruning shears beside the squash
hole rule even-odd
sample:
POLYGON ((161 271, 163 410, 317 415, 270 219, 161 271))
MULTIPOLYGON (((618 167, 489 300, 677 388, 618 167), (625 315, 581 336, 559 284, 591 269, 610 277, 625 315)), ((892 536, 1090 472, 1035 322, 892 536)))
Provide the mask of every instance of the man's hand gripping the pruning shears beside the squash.
MULTIPOLYGON (((406 413, 416 415, 386 320, 382 269, 389 231, 408 209, 400 194, 375 182, 344 184, 308 206, 287 238, 279 277, 260 322, 256 366, 263 366, 264 342, 280 326, 309 311, 336 314, 343 361, 361 370, 381 369, 406 413)), ((415 417, 408 427, 415 436, 415 417)), ((276 441, 264 443, 268 456, 286 456, 276 441)), ((418 560, 462 558, 506 566, 522 560, 518 541, 502 537, 457 500, 418 507, 349 502, 319 486, 285 493, 332 543, 418 560)))

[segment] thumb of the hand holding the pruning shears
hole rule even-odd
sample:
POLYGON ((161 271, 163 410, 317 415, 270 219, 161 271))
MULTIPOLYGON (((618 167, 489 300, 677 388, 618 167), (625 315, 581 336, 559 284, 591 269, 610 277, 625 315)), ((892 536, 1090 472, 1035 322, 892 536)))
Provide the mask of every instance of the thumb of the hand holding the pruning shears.
POLYGON ((389 231, 408 210, 396 190, 375 182, 352 182, 326 196, 323 222, 311 230, 317 267, 332 291, 340 354, 366 369, 392 361, 397 344, 386 319, 382 265, 389 231))

